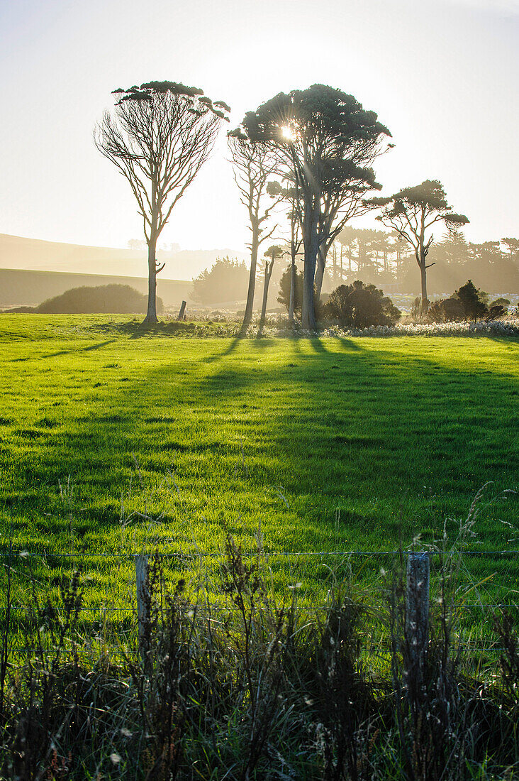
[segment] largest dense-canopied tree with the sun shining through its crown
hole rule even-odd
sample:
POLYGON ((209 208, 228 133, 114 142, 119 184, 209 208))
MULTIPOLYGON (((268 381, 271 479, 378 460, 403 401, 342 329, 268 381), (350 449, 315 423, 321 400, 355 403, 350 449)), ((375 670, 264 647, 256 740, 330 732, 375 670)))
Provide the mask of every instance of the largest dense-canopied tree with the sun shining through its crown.
POLYGON ((301 325, 313 330, 319 248, 347 198, 366 208, 359 196, 374 186, 369 166, 389 130, 351 95, 324 84, 279 93, 248 112, 242 126, 251 141, 263 141, 276 152, 297 188, 304 244, 301 325))

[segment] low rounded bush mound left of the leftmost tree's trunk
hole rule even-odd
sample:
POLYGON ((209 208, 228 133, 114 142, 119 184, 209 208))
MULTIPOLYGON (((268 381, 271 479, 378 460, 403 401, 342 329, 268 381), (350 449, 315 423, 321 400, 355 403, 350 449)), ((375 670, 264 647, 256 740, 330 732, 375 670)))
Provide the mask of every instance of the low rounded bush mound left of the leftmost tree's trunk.
MULTIPOLYGON (((146 312, 147 297, 130 285, 100 285, 73 287, 62 295, 49 298, 34 311, 53 314, 140 314, 146 312)), ((163 310, 162 299, 157 299, 158 313, 163 310)))

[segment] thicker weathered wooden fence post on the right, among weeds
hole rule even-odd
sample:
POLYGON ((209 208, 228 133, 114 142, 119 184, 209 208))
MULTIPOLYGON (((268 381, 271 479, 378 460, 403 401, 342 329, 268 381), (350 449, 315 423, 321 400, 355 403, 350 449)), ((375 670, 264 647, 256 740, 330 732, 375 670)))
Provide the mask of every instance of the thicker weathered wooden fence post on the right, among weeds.
POLYGON ((429 555, 410 553, 407 556, 407 594, 405 636, 408 654, 408 675, 421 679, 427 654, 429 631, 429 555))

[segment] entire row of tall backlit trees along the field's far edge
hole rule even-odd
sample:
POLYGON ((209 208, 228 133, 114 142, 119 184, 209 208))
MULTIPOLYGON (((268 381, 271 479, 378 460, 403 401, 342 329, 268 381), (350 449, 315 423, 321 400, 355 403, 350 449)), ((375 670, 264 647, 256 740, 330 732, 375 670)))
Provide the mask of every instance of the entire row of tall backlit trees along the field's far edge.
MULTIPOLYGON (((148 313, 155 322, 158 237, 176 202, 208 158, 229 106, 213 102, 195 87, 148 82, 119 88, 116 107, 105 112, 95 142, 130 183, 143 219, 148 245, 148 313)), ((251 268, 244 330, 251 322, 260 245, 273 237, 283 213, 291 255, 291 298, 296 259, 303 258, 301 325, 315 328, 326 264, 334 242, 356 216, 378 209, 379 219, 411 249, 421 273, 421 297, 427 301, 427 269, 432 230, 441 223, 453 233, 467 217, 450 209, 443 187, 427 180, 386 198, 369 197, 381 189, 373 165, 393 147, 389 130, 375 112, 352 95, 322 84, 280 93, 247 112, 228 134, 236 184, 251 228, 251 268)), ((268 281, 279 245, 265 267, 268 281)), ((293 318, 293 306, 290 306, 293 318)))

